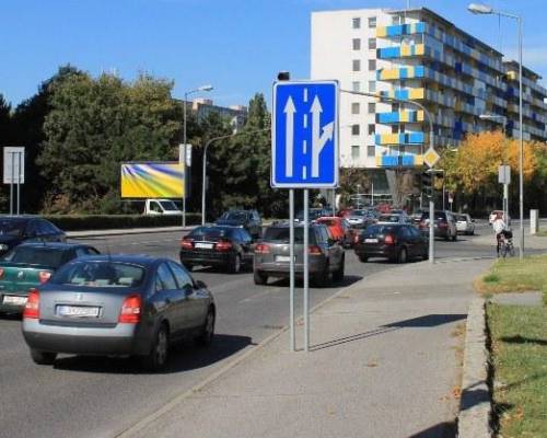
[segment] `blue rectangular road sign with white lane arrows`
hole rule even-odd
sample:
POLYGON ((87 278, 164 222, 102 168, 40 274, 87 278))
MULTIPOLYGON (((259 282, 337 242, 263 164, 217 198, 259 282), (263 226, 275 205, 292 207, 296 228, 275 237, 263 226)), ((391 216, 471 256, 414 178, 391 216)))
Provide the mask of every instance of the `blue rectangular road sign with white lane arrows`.
POLYGON ((338 82, 276 82, 271 186, 338 186, 338 82))

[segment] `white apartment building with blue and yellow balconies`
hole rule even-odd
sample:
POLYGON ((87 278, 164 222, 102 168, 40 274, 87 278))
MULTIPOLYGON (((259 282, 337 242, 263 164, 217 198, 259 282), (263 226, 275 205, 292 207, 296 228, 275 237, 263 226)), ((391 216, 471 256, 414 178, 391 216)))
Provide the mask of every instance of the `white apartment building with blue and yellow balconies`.
MULTIPOLYGON (((417 169, 429 146, 492 126, 519 135, 519 65, 429 9, 312 13, 311 78, 337 79, 342 168, 417 169), (376 93, 384 100, 351 92, 376 93), (489 114, 499 117, 482 119, 489 114)), ((547 90, 523 69, 525 139, 547 140, 547 90)))

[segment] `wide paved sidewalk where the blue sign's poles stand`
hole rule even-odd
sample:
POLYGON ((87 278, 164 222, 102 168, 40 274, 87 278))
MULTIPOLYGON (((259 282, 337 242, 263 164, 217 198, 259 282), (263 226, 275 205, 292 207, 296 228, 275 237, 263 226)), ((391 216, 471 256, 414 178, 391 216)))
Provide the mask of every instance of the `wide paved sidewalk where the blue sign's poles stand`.
POLYGON ((310 353, 284 332, 123 436, 454 437, 472 280, 490 263, 366 277, 315 310, 310 353))

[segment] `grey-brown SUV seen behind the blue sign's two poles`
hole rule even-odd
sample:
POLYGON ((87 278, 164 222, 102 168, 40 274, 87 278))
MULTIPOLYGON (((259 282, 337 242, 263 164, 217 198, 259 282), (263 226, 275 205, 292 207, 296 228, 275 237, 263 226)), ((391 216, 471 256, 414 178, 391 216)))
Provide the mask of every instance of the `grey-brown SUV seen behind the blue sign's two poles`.
MULTIPOLYGON (((315 286, 325 286, 330 279, 344 279, 344 249, 333 238, 324 224, 309 227, 309 273, 315 286)), ((294 272, 302 278, 304 261, 304 227, 294 227, 294 272)), ((266 285, 269 277, 288 278, 290 274, 289 224, 280 223, 268 227, 263 241, 255 246, 253 263, 256 285, 266 285)))

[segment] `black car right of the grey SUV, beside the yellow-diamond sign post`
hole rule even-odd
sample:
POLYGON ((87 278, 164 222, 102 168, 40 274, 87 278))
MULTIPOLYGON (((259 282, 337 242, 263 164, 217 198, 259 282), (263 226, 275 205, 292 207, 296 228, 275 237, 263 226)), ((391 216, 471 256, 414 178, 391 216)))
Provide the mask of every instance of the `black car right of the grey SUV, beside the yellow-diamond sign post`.
POLYGON ((353 246, 361 262, 385 257, 405 263, 410 258, 428 258, 429 240, 410 224, 374 224, 362 231, 353 246))

